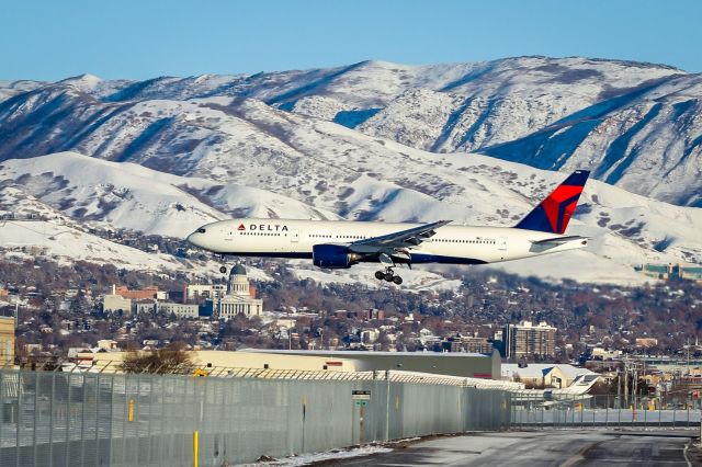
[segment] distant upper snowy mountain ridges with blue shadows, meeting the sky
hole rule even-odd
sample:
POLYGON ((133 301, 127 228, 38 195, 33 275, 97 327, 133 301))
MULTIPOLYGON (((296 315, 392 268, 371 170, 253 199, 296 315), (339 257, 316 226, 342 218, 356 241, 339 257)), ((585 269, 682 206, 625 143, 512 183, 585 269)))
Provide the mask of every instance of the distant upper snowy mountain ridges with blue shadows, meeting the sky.
POLYGON ((314 117, 437 153, 588 168, 629 191, 701 206, 699 82, 664 65, 578 57, 0 82, 0 160, 76 150, 226 180, 222 157, 278 169, 313 156, 291 127, 314 117))

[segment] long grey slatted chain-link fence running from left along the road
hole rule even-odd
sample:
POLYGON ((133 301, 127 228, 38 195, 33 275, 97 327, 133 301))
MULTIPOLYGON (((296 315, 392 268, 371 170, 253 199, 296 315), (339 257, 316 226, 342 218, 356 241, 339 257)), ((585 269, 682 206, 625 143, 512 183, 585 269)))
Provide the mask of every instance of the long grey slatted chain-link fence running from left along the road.
POLYGON ((377 379, 0 371, 0 466, 193 465, 505 430, 509 392, 377 379))

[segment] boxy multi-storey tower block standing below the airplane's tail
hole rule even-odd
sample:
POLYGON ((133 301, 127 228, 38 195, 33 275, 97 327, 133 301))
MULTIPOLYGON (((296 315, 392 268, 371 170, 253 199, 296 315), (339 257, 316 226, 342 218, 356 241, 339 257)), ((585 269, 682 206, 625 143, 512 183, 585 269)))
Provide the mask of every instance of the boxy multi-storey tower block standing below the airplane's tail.
POLYGON ((505 357, 551 358, 556 353, 556 328, 540 322, 522 321, 502 329, 505 357))

